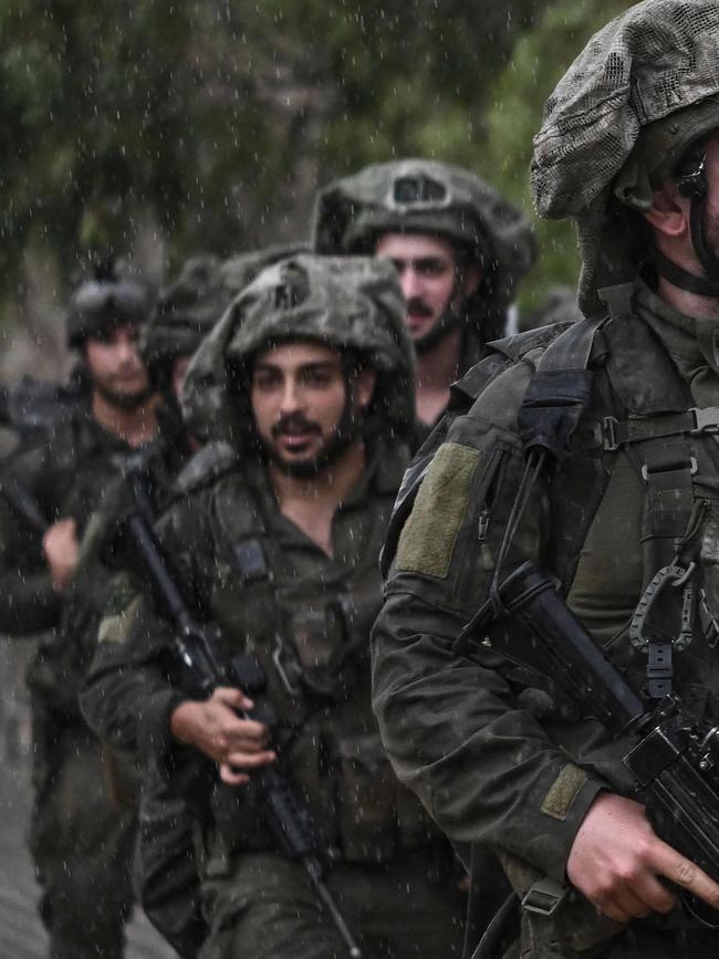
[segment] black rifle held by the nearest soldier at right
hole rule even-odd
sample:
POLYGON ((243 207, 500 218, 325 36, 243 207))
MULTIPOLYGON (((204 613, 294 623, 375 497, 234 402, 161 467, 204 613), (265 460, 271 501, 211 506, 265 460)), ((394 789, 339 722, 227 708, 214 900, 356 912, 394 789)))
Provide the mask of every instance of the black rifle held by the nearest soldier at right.
MULTIPOLYGON (((666 843, 719 882, 719 727, 698 719, 671 692, 645 706, 605 658, 556 591, 555 582, 533 563, 523 563, 500 586, 504 614, 488 633, 492 647, 522 666, 550 676, 582 709, 615 737, 635 744, 623 758, 652 823, 666 843), (518 650, 534 649, 532 664, 518 650)), ((483 638, 492 617, 484 604, 465 627, 455 652, 483 638), (478 632, 479 630, 479 632, 478 632)), ((719 928, 719 915, 685 897, 704 925, 719 928), (711 918, 698 915, 709 911, 711 918)))

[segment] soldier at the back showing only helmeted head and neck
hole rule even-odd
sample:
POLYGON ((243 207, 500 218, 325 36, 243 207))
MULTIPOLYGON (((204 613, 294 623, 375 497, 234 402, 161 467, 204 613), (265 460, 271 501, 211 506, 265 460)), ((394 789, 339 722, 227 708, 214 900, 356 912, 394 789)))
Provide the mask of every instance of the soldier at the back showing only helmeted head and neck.
POLYGON ((404 159, 366 167, 317 197, 314 248, 395 264, 417 355, 417 416, 427 435, 449 387, 502 336, 534 261, 527 219, 460 167, 404 159))

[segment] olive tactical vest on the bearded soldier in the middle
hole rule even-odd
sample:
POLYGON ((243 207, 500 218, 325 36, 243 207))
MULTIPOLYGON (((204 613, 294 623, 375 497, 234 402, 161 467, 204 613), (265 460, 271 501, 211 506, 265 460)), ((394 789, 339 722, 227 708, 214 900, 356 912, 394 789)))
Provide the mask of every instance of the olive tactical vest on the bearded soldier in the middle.
MULTIPOLYGON (((262 665, 278 715, 273 739, 321 842, 352 863, 388 862, 439 837, 393 773, 371 709, 369 630, 382 604, 376 557, 392 499, 385 494, 372 512, 358 562, 323 566, 320 575, 283 554, 261 497, 237 470, 212 484, 209 501, 210 612, 225 653, 262 665)), ((226 853, 272 846, 251 785, 219 784, 212 812, 226 853)))

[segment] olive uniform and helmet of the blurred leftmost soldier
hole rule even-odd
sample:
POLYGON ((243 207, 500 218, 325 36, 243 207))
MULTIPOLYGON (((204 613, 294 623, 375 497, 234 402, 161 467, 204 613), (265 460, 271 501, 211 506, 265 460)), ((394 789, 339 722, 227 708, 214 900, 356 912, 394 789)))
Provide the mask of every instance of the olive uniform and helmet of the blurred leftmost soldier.
MULTIPOLYGON (((146 322, 150 301, 134 281, 102 277, 80 286, 67 315, 67 342, 81 346, 113 326, 146 322)), ((161 499, 186 452, 165 432, 140 452, 161 499)), ((133 895, 137 776, 80 715, 77 692, 92 659, 88 638, 104 607, 108 573, 97 562, 107 521, 119 508, 118 471, 136 457, 92 416, 88 402, 42 440, 21 448, 9 469, 48 522, 72 517, 81 539, 73 582, 53 590, 39 532, 0 500, 2 628, 49 630, 28 673, 33 716, 34 809, 30 846, 42 887, 40 910, 53 959, 88 952, 119 957, 133 895)), ((106 559, 111 559, 107 556, 106 559)))

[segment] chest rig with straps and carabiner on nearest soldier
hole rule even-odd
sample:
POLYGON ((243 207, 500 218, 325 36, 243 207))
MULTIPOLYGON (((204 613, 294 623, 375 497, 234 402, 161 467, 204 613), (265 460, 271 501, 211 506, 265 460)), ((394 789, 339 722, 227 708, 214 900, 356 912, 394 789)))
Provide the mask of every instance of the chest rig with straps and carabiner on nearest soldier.
MULTIPOLYGON (((698 635, 709 646, 719 638, 701 555, 719 489, 719 408, 692 406, 669 355, 634 314, 632 284, 603 293, 608 317, 577 323, 542 356, 520 434, 528 471, 552 470, 551 552, 565 590, 618 451, 640 477, 643 592, 628 633, 647 657, 646 694, 660 699, 673 689, 675 653, 698 635)), ((515 512, 528 501, 520 490, 515 512)))

